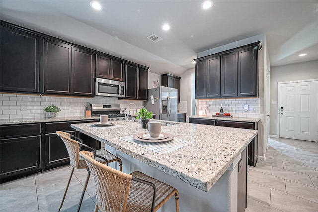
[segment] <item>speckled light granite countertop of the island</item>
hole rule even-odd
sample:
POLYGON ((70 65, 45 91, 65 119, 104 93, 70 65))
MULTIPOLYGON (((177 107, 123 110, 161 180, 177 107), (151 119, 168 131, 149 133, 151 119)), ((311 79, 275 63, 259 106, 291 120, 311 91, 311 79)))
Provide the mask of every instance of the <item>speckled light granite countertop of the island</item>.
POLYGON ((122 127, 95 129, 85 124, 71 127, 206 192, 257 135, 257 130, 173 122, 178 124, 162 126, 161 131, 193 143, 168 154, 158 154, 120 139, 146 132, 140 124, 114 123, 122 127))

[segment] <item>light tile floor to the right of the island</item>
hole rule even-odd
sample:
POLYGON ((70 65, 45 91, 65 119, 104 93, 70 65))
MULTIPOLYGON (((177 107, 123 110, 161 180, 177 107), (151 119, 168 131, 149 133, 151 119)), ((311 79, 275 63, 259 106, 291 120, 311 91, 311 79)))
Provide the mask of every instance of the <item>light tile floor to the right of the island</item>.
POLYGON ((268 139, 266 161, 248 166, 245 212, 318 212, 318 143, 268 139))

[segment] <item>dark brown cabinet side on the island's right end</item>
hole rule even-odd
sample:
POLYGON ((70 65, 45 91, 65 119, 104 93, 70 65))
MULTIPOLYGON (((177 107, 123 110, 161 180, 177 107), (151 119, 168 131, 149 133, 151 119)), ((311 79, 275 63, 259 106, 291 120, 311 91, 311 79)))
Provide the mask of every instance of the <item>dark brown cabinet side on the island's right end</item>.
POLYGON ((239 170, 238 164, 238 212, 244 212, 246 209, 247 195, 247 151, 246 148, 241 153, 242 168, 239 170))

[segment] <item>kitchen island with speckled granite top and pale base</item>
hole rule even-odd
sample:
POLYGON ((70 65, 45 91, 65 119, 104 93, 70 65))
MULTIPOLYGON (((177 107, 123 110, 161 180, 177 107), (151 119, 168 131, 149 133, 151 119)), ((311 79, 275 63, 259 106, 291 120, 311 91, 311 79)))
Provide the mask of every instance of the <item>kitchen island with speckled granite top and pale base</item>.
MULTIPOLYGON (((123 160, 124 172, 140 170, 178 189, 180 212, 237 211, 238 183, 241 183, 237 164, 257 130, 173 122, 162 126, 161 131, 191 143, 158 154, 123 140, 146 132, 140 124, 131 121, 114 121, 114 124, 117 127, 93 128, 87 123, 71 127, 104 142, 108 151, 123 160)), ((174 202, 169 200, 161 211, 173 209, 174 202)))

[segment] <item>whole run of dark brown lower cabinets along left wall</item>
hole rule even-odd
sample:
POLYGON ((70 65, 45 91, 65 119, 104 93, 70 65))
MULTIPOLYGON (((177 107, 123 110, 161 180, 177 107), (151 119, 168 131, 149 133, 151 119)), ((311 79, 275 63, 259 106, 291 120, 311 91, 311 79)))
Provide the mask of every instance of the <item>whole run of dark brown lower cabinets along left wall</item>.
POLYGON ((1 125, 0 183, 69 164, 64 142, 55 134, 58 130, 69 132, 80 137, 84 144, 100 149, 99 141, 71 128, 71 124, 94 121, 98 120, 1 125))

